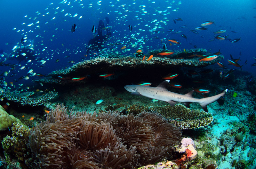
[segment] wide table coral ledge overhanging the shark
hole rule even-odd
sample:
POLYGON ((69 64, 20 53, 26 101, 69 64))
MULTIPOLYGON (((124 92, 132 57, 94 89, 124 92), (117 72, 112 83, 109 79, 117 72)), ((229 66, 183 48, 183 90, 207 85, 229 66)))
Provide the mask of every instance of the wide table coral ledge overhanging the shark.
MULTIPOLYGON (((202 53, 205 52, 203 49, 193 49, 189 53, 202 53)), ((188 53, 188 54, 189 54, 188 53)), ((178 53, 180 54, 180 53, 178 53)), ((145 67, 147 69, 159 69, 159 68, 175 68, 175 67, 205 67, 220 61, 224 57, 219 55, 219 57, 212 61, 200 62, 195 58, 186 59, 173 59, 166 57, 159 57, 155 51, 155 57, 149 61, 142 61, 139 57, 95 57, 91 60, 84 60, 79 62, 72 67, 62 70, 56 70, 50 73, 51 77, 44 77, 36 79, 37 82, 44 82, 50 84, 69 84, 69 83, 84 83, 84 81, 72 81, 73 77, 83 76, 86 74, 90 76, 99 76, 101 73, 106 72, 124 72, 129 69, 140 70, 145 67)))

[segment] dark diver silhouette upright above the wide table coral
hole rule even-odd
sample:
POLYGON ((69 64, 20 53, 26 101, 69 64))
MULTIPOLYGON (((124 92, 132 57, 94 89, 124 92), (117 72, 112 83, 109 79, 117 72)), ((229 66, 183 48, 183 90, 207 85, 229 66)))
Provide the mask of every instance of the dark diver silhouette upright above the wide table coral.
POLYGON ((99 21, 99 26, 97 30, 98 34, 94 38, 89 40, 88 47, 86 50, 87 54, 94 50, 98 52, 99 49, 104 49, 103 42, 108 40, 112 36, 111 30, 110 30, 111 26, 108 26, 109 24, 108 17, 106 17, 106 21, 107 21, 106 26, 104 25, 102 20, 99 21), (104 36, 103 36, 102 30, 107 30, 107 33, 104 36))

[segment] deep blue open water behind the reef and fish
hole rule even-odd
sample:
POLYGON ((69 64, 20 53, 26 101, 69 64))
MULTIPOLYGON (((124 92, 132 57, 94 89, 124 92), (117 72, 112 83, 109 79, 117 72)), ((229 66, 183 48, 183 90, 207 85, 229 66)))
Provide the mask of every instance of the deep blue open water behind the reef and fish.
MULTIPOLYGON (((251 66, 256 62, 253 58, 256 57, 255 0, 12 0, 0 1, 0 5, 0 50, 10 54, 15 50, 15 46, 22 46, 21 38, 24 38, 23 45, 33 43, 33 53, 36 54, 31 61, 25 57, 24 60, 18 60, 14 56, 14 60, 7 59, 4 65, 0 66, 0 74, 10 70, 6 77, 4 74, 0 77, 8 84, 22 76, 28 76, 29 79, 21 78, 17 84, 31 83, 31 79, 38 78, 32 76, 33 73, 48 74, 93 57, 92 53, 86 56, 88 41, 95 36, 92 26, 97 29, 99 20, 106 24, 105 17, 110 19, 108 26, 112 27, 112 37, 104 45, 120 55, 132 55, 138 49, 147 54, 148 50, 162 49, 164 43, 167 44, 168 50, 204 48, 214 53, 220 49, 225 56, 221 62, 228 69, 240 70, 239 67, 228 65, 227 60, 231 54, 234 59, 240 57, 241 61, 238 63, 244 65, 243 71, 255 75, 255 66, 251 66), (181 18, 182 21, 176 21, 175 18, 181 18), (207 30, 196 30, 198 34, 189 31, 195 30, 205 21, 214 21, 216 25, 204 26, 207 30), (73 24, 76 24, 77 28, 72 33, 73 24), (128 29, 128 25, 132 25, 132 31, 128 29), (184 32, 168 32, 170 29, 174 29, 173 32, 184 32), (213 33, 218 30, 226 32, 213 33), (186 35, 187 40, 180 34, 186 35), (217 35, 227 35, 227 39, 209 41, 217 35), (239 38, 241 40, 236 43, 230 42, 239 38), (148 41, 145 42, 145 39, 148 41), (168 39, 176 39, 181 44, 170 46, 168 39), (122 46, 126 46, 125 51, 121 50, 122 46), (11 68, 10 65, 5 65, 8 63, 18 65, 11 68), (28 74, 30 69, 33 71, 28 74)), ((106 30, 103 30, 103 33, 106 33, 106 30)), ((2 55, 0 62, 5 59, 2 55)), ((215 66, 219 68, 217 64, 215 66)))

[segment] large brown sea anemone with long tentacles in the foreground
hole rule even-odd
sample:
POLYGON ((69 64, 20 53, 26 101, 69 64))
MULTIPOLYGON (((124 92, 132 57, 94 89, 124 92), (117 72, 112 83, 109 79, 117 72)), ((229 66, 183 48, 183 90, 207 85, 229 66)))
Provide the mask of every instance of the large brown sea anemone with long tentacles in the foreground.
POLYGON ((172 155, 179 128, 156 113, 67 113, 58 105, 32 130, 32 168, 136 168, 172 155))

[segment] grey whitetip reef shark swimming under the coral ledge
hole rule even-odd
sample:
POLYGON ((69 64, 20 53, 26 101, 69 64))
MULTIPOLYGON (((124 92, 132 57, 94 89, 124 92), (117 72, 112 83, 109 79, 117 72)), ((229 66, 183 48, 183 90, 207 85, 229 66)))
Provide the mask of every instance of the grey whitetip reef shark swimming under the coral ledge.
POLYGON ((155 88, 149 87, 149 86, 143 86, 143 85, 127 85, 127 86, 124 86, 124 88, 127 91, 131 92, 132 95, 145 96, 151 99, 168 102, 172 106, 174 106, 176 102, 183 102, 185 106, 189 108, 190 103, 192 102, 199 103, 205 112, 208 112, 206 107, 208 104, 215 102, 221 96, 224 97, 228 91, 228 89, 226 89, 218 95, 197 99, 197 98, 193 98, 192 96, 194 92, 193 90, 188 92, 186 95, 181 95, 178 93, 173 93, 168 91, 166 87, 169 84, 169 82, 170 80, 163 81, 155 88))

